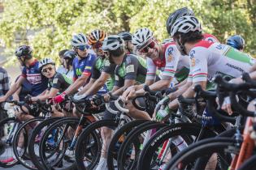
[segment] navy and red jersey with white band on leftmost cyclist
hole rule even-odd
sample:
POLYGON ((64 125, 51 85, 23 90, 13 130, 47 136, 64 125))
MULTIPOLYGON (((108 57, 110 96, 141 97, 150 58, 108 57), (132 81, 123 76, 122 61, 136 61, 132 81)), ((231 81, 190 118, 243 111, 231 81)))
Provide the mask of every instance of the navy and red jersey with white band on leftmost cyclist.
POLYGON ((37 60, 35 60, 30 66, 24 67, 21 76, 27 79, 28 83, 31 84, 32 88, 30 95, 37 96, 46 90, 48 79, 41 74, 39 62, 37 60))

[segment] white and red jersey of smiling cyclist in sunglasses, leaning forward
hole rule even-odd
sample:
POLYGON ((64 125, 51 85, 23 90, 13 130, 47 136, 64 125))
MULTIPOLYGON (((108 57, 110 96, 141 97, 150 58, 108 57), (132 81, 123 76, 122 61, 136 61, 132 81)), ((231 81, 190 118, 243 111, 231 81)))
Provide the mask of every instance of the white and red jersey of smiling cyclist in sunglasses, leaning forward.
POLYGON ((156 71, 162 70, 162 76, 176 77, 178 82, 189 75, 189 57, 180 54, 174 42, 163 46, 163 59, 152 60, 147 57, 146 79, 155 79, 156 71))

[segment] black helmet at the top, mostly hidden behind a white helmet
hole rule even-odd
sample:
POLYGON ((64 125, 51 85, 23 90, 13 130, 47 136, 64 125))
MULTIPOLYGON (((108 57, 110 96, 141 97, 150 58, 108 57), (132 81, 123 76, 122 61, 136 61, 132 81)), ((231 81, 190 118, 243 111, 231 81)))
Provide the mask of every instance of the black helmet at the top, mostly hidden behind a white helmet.
POLYGON ((174 11, 171 13, 167 19, 167 32, 170 35, 171 27, 173 23, 176 22, 177 19, 180 19, 182 16, 194 16, 193 11, 188 7, 180 8, 179 10, 174 11))

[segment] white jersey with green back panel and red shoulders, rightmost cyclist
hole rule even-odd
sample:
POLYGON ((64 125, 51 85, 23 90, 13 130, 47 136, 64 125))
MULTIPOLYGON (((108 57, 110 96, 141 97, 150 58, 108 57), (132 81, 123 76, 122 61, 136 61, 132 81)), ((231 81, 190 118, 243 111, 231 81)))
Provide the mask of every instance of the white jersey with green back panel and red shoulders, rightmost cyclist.
POLYGON ((190 72, 188 81, 209 81, 216 74, 239 77, 248 72, 254 64, 254 59, 228 45, 199 41, 189 53, 190 72))

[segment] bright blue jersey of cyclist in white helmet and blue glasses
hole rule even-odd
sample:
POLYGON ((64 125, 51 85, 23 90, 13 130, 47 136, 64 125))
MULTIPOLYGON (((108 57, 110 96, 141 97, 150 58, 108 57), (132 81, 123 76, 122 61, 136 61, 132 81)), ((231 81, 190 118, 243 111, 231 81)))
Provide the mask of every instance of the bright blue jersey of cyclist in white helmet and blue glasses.
POLYGON ((75 57, 73 60, 73 80, 76 81, 76 79, 80 78, 82 74, 89 77, 91 75, 91 70, 95 59, 96 56, 91 53, 84 58, 75 57))

